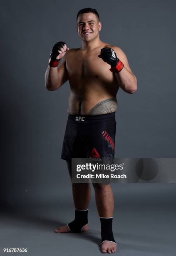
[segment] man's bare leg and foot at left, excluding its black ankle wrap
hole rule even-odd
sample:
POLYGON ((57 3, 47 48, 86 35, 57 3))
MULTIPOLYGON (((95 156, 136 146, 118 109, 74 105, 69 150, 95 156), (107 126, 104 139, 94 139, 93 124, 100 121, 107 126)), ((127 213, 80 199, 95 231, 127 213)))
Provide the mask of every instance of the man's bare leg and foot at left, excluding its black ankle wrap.
MULTIPOLYGON (((71 161, 67 161, 67 167, 69 171, 69 176, 71 178, 72 165, 71 161)), ((89 207, 89 202, 91 199, 91 187, 89 183, 72 183, 72 192, 74 207, 78 210, 86 210, 89 207)), ((82 228, 82 231, 88 231, 89 224, 82 228)), ((70 232, 67 225, 55 229, 56 233, 70 232)))

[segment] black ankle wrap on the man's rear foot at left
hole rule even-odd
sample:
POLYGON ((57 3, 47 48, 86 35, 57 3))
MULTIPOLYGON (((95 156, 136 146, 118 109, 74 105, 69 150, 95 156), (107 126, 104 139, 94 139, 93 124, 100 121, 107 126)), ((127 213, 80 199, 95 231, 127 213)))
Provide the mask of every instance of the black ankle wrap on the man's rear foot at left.
POLYGON ((80 233, 82 228, 88 223, 87 220, 87 210, 77 210, 75 209, 75 218, 72 222, 67 224, 69 230, 73 233, 80 233))

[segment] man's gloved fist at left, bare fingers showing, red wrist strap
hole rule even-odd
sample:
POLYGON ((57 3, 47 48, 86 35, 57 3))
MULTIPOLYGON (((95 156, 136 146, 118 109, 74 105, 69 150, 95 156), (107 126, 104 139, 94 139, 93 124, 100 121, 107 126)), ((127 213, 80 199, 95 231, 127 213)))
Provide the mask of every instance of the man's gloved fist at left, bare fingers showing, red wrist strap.
POLYGON ((67 45, 65 42, 58 42, 52 47, 51 53, 50 53, 50 60, 49 65, 50 67, 57 67, 59 64, 60 59, 65 55, 66 51, 68 51, 69 48, 67 48, 67 45))

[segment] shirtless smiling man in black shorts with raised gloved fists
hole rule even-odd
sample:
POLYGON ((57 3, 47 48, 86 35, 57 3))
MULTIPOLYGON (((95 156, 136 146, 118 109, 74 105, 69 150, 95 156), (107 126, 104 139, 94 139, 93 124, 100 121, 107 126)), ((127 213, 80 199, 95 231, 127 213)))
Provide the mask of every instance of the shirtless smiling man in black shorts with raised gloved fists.
MULTIPOLYGON (((102 23, 95 9, 80 10, 77 14, 77 33, 82 46, 69 49, 64 42, 55 44, 45 74, 47 90, 57 90, 67 80, 70 84, 69 116, 61 156, 67 161, 70 177, 72 158, 114 157, 117 92, 119 87, 127 93, 137 90, 137 80, 126 55, 118 46, 100 40, 101 28, 102 23)), ((114 253, 117 243, 112 233, 112 188, 110 184, 94 183, 93 186, 101 222, 101 251, 114 253)), ((56 233, 89 230, 90 184, 72 183, 72 191, 75 218, 57 228, 56 233)))

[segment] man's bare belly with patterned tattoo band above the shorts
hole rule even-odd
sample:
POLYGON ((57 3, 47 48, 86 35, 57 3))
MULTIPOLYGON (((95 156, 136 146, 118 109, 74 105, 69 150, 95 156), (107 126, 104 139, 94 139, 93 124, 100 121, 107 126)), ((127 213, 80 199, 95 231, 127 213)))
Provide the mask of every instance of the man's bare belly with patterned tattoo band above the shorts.
POLYGON ((82 99, 71 94, 67 112, 70 115, 103 115, 115 112, 117 108, 117 99, 112 95, 82 99))

